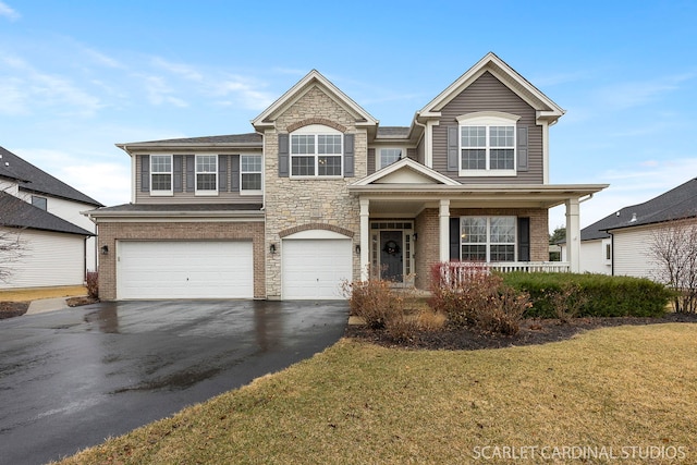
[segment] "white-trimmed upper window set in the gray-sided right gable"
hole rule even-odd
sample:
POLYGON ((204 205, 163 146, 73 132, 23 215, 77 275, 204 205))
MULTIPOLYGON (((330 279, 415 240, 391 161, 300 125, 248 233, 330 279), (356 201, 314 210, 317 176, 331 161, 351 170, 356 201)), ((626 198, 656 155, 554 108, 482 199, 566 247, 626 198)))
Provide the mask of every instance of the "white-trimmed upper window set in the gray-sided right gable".
POLYGON ((515 127, 519 117, 476 112, 460 122, 460 174, 515 175, 515 127))

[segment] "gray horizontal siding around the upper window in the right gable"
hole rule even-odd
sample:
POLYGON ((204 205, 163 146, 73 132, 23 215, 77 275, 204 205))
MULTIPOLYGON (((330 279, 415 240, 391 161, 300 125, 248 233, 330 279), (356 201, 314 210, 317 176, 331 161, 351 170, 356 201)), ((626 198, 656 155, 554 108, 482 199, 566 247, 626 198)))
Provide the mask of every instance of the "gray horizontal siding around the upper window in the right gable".
POLYGON ((466 184, 542 184, 542 126, 535 123, 536 111, 491 73, 485 72, 441 110, 433 126, 433 169, 466 184), (517 127, 528 129, 528 170, 515 176, 458 176, 448 171, 448 127, 457 126, 457 117, 477 111, 502 111, 519 115, 517 127))

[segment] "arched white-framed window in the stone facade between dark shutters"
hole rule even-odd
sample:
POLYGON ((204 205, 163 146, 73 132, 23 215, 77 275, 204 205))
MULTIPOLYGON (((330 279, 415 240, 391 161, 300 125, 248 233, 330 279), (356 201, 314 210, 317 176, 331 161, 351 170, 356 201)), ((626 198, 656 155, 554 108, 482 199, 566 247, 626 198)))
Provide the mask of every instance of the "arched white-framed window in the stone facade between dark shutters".
POLYGON ((298 132, 291 134, 291 175, 341 176, 343 135, 321 125, 298 132))

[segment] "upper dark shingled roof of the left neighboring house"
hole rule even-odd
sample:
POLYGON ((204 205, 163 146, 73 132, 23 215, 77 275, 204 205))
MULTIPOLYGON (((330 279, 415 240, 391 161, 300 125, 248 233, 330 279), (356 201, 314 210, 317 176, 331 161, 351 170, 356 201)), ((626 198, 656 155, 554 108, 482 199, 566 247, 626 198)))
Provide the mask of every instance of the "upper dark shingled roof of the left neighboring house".
POLYGON ((101 204, 94 198, 36 168, 3 147, 0 147, 0 176, 13 180, 23 191, 101 207, 101 204))

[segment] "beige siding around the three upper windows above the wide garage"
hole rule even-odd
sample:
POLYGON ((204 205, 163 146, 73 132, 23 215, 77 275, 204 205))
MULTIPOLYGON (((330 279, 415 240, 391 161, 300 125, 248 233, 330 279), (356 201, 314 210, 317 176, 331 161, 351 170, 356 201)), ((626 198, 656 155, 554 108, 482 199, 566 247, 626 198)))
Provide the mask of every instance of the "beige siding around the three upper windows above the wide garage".
MULTIPOLYGON (((248 151, 245 150, 245 154, 254 154, 254 151, 248 151)), ((229 152, 229 154, 233 154, 233 152, 229 152)), ((166 155, 170 155, 170 154, 166 154, 166 155)), ((222 155, 222 154, 221 154, 222 155)), ((184 155, 184 159, 186 159, 186 155, 184 155)), ((172 196, 150 196, 149 192, 142 192, 142 160, 143 157, 140 156, 136 156, 136 173, 135 173, 135 191, 136 191, 136 197, 135 197, 135 203, 136 204, 254 204, 254 203, 261 203, 262 196, 259 195, 240 195, 239 192, 233 192, 233 186, 234 185, 239 185, 239 178, 233 180, 233 175, 232 175, 232 170, 233 170, 233 163, 230 162, 232 159, 232 157, 228 158, 228 161, 225 162, 225 180, 224 180, 224 189, 223 186, 219 186, 218 189, 218 195, 217 196, 203 196, 199 195, 197 196, 196 193, 194 192, 194 189, 192 189, 191 192, 187 192, 187 188, 191 188, 189 184, 192 182, 194 182, 195 176, 191 175, 187 176, 186 175, 186 162, 184 162, 184 175, 183 178, 183 192, 174 192, 174 195, 172 196), (234 182, 234 184, 233 184, 234 182)), ((184 160, 185 161, 185 160, 184 160)), ((222 164, 219 166, 222 169, 222 164)), ((147 169, 147 167, 146 167, 147 169)), ((222 176, 220 175, 221 173, 219 173, 219 182, 223 181, 222 176)), ((235 176, 239 176, 239 173, 234 174, 235 176)))

